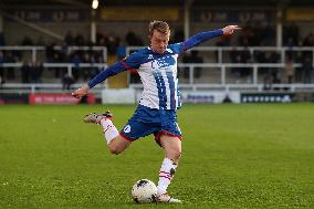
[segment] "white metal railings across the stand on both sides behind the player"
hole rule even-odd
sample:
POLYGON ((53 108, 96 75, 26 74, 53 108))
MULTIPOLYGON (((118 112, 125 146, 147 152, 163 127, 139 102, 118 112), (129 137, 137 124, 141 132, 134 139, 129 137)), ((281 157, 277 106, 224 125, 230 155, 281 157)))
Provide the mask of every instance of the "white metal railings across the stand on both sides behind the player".
MULTIPOLYGON (((67 46, 67 50, 103 50, 103 55, 105 59, 107 59, 107 51, 106 48, 103 46, 67 46)), ((132 51, 139 49, 138 46, 129 46, 126 49, 127 54, 129 54, 132 51)), ((32 59, 36 60, 38 58, 38 52, 42 52, 45 50, 44 46, 0 46, 0 51, 12 51, 12 50, 19 50, 19 51, 29 51, 32 53, 32 59)), ((62 46, 55 46, 55 50, 62 50, 62 46)), ((271 67, 271 69, 278 69, 278 70, 283 70, 285 69, 285 56, 287 52, 299 52, 302 53, 304 51, 306 52, 312 52, 314 56, 314 48, 211 48, 211 46, 197 46, 193 48, 192 50, 201 51, 201 52, 210 52, 210 53, 217 53, 217 60, 216 62, 207 62, 207 63, 179 63, 178 67, 180 71, 182 69, 188 69, 189 71, 189 77, 186 82, 184 82, 184 87, 189 87, 193 90, 198 88, 222 88, 222 90, 236 90, 236 88, 247 88, 247 90, 257 90, 257 91, 262 91, 264 88, 264 83, 261 80, 261 70, 265 67, 271 67), (243 51, 247 50, 251 54, 254 54, 255 52, 270 52, 274 51, 280 54, 280 63, 231 63, 228 59, 228 53, 230 51, 243 51), (206 81, 205 83, 199 83, 195 76, 193 76, 193 71, 196 67, 202 67, 206 70, 214 71, 219 75, 216 77, 214 82, 211 81, 206 81), (234 80, 230 80, 230 76, 234 76, 231 73, 228 73, 230 69, 250 69, 250 77, 251 81, 249 83, 234 83, 234 80)), ((106 60, 105 60, 106 61, 106 60)), ((314 62, 314 58, 313 58, 314 62)), ((13 67, 13 70, 17 70, 22 66, 22 63, 2 63, 0 64, 0 67, 13 67)), ((80 63, 73 64, 73 63, 43 63, 43 66, 45 69, 67 69, 67 73, 72 74, 73 67, 100 67, 100 69, 105 69, 107 67, 106 63, 80 63)), ((294 63, 294 67, 301 67, 301 63, 294 63)), ((314 63, 313 63, 314 66, 314 63)), ((140 84, 133 84, 128 80, 128 84, 130 87, 136 87, 140 88, 140 84)), ((6 90, 7 87, 10 88, 11 85, 18 85, 17 83, 7 83, 2 86, 2 91, 6 90)), ((43 86, 51 86, 53 84, 24 84, 25 86, 31 86, 28 87, 31 91, 36 91, 36 90, 43 90, 43 86), (42 86, 41 86, 42 85, 42 86), (34 87, 35 86, 35 87, 34 87)), ((55 86, 62 86, 61 84, 55 86)), ((289 91, 313 91, 313 84, 301 84, 301 83, 294 83, 294 84, 272 84, 273 87, 278 88, 286 88, 289 91)), ((18 88, 18 87, 17 87, 18 88)), ((53 87, 52 87, 53 88, 53 87)))

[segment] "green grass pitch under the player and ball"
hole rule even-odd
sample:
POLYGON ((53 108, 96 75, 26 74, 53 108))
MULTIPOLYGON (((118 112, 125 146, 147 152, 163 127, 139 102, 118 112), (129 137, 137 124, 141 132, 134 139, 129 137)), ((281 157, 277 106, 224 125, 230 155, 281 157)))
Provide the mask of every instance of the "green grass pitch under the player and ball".
POLYGON ((314 104, 185 105, 180 206, 133 202, 164 154, 149 136, 111 155, 82 123, 107 108, 119 129, 135 106, 0 106, 0 208, 314 208, 314 104))

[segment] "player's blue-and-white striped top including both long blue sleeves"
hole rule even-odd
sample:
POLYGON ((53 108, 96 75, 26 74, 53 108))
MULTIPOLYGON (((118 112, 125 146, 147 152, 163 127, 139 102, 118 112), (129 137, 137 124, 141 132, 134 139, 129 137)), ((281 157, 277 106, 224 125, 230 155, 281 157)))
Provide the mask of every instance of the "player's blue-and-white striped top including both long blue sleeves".
POLYGON ((93 87, 108 76, 134 69, 138 72, 144 86, 140 105, 157 109, 177 109, 181 106, 177 79, 178 55, 221 34, 222 30, 198 33, 185 42, 168 45, 163 54, 155 53, 149 46, 138 50, 101 72, 88 83, 88 86, 93 87))

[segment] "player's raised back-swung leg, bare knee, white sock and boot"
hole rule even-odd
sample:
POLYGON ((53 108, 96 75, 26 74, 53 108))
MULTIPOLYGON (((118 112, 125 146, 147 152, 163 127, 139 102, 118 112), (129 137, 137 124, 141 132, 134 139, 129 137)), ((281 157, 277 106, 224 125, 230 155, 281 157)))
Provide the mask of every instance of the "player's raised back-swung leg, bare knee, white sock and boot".
POLYGON ((126 140, 119 135, 112 119, 113 114, 108 111, 103 114, 91 113, 84 117, 85 123, 94 123, 103 127, 103 133, 105 135, 109 151, 118 155, 123 153, 132 142, 126 140))

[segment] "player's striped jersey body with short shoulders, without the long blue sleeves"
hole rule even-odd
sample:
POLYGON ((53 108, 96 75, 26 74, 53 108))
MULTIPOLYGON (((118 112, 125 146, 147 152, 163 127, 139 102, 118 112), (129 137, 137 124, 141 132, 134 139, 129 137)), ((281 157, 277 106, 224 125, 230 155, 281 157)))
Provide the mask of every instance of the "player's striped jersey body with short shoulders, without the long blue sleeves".
POLYGON ((139 50, 122 63, 137 70, 144 91, 139 104, 150 108, 176 109, 181 106, 177 79, 177 58, 181 44, 168 45, 163 54, 150 48, 139 50))

